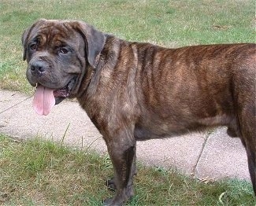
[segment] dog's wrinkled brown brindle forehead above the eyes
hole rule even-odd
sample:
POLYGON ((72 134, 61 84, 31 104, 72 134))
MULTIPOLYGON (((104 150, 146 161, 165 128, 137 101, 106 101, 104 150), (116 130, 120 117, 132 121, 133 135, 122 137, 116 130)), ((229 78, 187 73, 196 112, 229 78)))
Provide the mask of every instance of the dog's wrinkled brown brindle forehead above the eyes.
POLYGON ((31 40, 37 40, 41 44, 63 44, 67 41, 75 43, 78 32, 72 27, 72 22, 48 20, 33 28, 31 40))

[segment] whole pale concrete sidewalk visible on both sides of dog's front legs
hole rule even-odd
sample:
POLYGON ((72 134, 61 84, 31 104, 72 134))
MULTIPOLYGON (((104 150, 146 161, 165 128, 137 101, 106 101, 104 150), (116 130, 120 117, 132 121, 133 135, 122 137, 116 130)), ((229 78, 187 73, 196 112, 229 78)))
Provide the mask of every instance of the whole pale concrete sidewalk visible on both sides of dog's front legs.
MULTIPOLYGON (((106 153, 106 145, 77 102, 63 101, 48 116, 32 109, 32 97, 0 90, 0 134, 18 138, 40 135, 76 147, 106 153), (66 131, 66 134, 65 134, 66 131)), ((187 134, 163 140, 137 142, 138 160, 144 164, 178 171, 202 179, 236 177, 250 179, 247 156, 239 138, 230 138, 226 128, 211 134, 187 134)))

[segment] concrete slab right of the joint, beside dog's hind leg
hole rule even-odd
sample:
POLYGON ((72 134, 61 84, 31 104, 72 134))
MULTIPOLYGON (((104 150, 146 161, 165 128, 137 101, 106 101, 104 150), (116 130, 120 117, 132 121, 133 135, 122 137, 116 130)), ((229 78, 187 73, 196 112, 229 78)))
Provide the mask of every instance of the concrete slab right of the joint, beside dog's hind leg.
POLYGON ((198 178, 250 179, 247 155, 239 138, 230 138, 226 128, 210 134, 198 160, 198 178))

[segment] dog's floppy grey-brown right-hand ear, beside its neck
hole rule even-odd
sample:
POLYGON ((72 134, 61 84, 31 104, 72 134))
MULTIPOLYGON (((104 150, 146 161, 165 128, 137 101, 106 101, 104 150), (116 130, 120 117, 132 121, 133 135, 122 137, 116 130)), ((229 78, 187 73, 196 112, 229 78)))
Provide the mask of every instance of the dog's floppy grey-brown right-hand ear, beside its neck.
POLYGON ((83 36, 86 44, 87 61, 93 68, 95 68, 97 64, 96 57, 103 50, 106 42, 106 35, 82 21, 73 22, 72 25, 75 26, 76 31, 83 36))

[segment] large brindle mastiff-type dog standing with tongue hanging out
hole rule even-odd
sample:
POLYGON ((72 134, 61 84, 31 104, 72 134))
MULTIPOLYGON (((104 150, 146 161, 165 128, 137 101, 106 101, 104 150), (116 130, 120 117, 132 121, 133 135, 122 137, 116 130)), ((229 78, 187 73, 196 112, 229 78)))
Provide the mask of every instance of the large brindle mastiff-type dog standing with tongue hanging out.
POLYGON ((38 20, 22 35, 33 107, 75 98, 104 138, 116 189, 133 195, 136 141, 226 126, 247 152, 256 193, 256 44, 164 48, 128 42, 76 20, 38 20))

